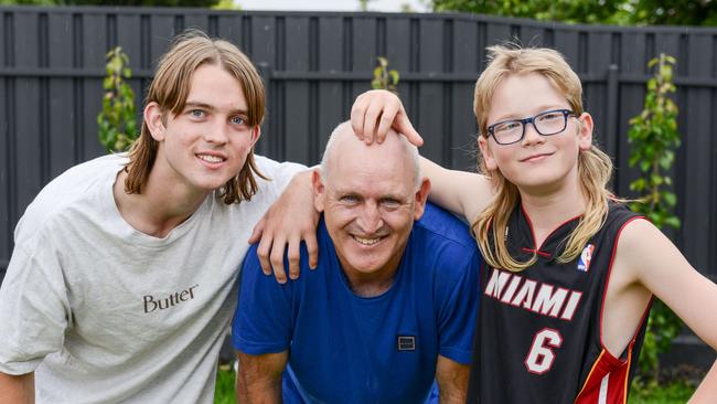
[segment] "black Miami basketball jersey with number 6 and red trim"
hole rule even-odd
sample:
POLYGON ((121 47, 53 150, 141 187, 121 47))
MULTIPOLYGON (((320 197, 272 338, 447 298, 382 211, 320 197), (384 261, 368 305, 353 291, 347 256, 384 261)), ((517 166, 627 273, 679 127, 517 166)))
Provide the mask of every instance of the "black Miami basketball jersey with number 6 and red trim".
POLYGON ((627 403, 646 327, 646 313, 621 358, 601 342, 603 299, 623 226, 639 217, 610 204, 604 225, 582 254, 559 264, 575 217, 539 248, 522 208, 505 234, 512 256, 537 262, 517 273, 481 268, 481 306, 469 385, 471 403, 627 403), (537 249, 535 249, 537 248, 537 249))

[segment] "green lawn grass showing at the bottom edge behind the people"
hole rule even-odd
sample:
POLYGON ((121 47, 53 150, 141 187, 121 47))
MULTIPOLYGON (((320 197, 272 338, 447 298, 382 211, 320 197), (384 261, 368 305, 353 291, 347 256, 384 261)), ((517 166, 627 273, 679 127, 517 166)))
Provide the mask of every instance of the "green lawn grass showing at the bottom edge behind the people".
MULTIPOLYGON (((236 403, 234 400, 234 378, 233 370, 227 369, 217 372, 215 404, 236 403)), ((682 381, 650 386, 640 386, 633 383, 628 402, 629 404, 684 404, 694 391, 695 387, 682 381)))

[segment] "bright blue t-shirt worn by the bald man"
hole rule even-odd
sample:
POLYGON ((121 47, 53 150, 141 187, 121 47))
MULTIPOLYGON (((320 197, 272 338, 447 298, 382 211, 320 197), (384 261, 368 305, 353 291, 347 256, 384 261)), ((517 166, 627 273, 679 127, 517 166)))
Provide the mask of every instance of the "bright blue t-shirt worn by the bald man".
POLYGON ((289 350, 285 402, 419 403, 441 354, 471 362, 481 257, 467 226, 427 205, 394 284, 364 298, 349 287, 323 221, 319 267, 301 251, 301 276, 285 285, 261 272, 256 246, 242 269, 232 329, 247 354, 289 350))

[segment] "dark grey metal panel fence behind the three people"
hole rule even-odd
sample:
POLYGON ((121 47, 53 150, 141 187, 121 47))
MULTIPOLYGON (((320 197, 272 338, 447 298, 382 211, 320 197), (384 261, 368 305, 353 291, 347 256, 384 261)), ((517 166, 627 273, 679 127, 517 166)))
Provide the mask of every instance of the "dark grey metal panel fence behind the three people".
MULTIPOLYGON (((154 8, 0 8, 0 275, 12 231, 40 189, 103 153, 97 141, 105 52, 129 54, 136 94, 174 33, 196 26, 247 52, 268 83, 258 150, 314 163, 331 128, 368 88, 376 56, 400 72, 399 91, 426 139, 422 153, 473 167, 472 89, 485 46, 516 38, 563 52, 585 84, 597 138, 614 157, 614 189, 629 195, 629 119, 642 109, 646 63, 678 60, 684 136, 674 180, 689 262, 717 277, 717 30, 566 25, 467 14, 225 12, 154 8)), ((140 103, 138 97, 138 104, 140 103)))

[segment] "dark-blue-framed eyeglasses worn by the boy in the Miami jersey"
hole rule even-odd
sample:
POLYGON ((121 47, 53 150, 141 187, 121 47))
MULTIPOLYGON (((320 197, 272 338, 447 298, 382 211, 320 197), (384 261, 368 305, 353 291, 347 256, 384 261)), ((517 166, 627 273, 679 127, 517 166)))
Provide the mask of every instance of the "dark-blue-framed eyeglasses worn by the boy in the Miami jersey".
POLYGON ((499 145, 511 145, 523 140, 525 126, 533 124, 535 131, 543 136, 557 135, 568 126, 568 117, 576 116, 570 109, 553 109, 524 119, 503 120, 488 127, 488 134, 499 145))

